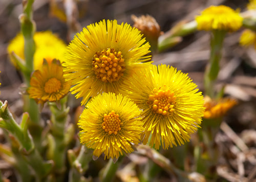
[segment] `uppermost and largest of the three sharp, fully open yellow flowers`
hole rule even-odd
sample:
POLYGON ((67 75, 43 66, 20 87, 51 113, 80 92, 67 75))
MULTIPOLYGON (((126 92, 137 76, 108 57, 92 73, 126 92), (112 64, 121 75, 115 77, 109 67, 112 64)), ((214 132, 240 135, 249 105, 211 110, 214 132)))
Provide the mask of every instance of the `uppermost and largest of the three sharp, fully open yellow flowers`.
POLYGON ((127 77, 150 63, 145 56, 150 45, 136 28, 116 20, 102 20, 77 33, 68 46, 64 66, 65 79, 71 81, 82 105, 101 92, 118 93, 127 77))

